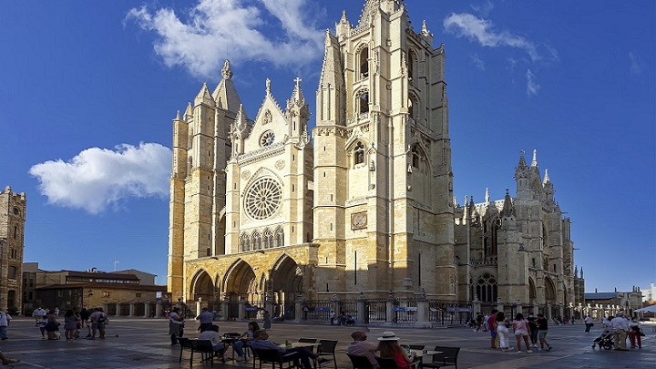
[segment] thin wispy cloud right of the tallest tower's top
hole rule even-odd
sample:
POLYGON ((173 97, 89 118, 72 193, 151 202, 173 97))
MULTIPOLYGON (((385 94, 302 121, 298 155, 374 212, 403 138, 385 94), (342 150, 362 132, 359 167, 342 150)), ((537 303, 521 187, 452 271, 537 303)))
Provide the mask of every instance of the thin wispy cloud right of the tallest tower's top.
POLYGON ((476 40, 481 46, 515 47, 526 51, 532 61, 541 58, 538 48, 528 39, 516 36, 508 31, 495 32, 491 21, 466 13, 451 13, 444 20, 445 31, 458 37, 476 40))

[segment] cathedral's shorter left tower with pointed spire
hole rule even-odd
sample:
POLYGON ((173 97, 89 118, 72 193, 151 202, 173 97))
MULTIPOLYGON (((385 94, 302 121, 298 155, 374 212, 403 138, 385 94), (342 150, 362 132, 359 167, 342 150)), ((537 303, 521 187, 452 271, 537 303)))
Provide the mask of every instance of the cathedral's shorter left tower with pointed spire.
POLYGON ((225 253, 226 200, 223 171, 231 156, 229 131, 241 99, 230 62, 213 93, 200 88, 184 115, 173 120, 173 170, 169 205, 169 292, 184 293, 184 261, 225 253))

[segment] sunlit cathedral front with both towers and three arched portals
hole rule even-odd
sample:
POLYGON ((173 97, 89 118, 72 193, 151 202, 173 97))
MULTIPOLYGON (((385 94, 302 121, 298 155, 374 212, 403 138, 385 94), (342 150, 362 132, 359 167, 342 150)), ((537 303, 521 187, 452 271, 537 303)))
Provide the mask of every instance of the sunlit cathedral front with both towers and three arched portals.
POLYGON ((433 38, 403 1, 367 0, 355 25, 344 14, 326 32, 312 130, 300 78, 282 106, 267 79, 251 119, 226 61, 173 122, 174 300, 472 297, 483 270, 463 265, 477 246, 461 237, 472 221, 453 198, 446 56, 433 38))

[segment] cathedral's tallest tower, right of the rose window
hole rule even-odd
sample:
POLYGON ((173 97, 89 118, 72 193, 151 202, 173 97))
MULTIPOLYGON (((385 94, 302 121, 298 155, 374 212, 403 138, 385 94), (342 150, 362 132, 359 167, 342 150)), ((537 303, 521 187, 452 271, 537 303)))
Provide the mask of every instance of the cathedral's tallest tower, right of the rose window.
POLYGON ((403 1, 326 33, 313 129, 320 293, 456 296, 445 51, 403 1))

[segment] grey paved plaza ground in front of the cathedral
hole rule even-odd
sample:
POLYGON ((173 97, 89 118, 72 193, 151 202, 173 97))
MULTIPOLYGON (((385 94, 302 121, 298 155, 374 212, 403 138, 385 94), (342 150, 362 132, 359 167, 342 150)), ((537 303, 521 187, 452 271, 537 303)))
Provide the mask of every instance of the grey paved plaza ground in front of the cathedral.
MULTIPOLYGON (((220 325, 220 333, 246 330, 246 323, 217 323, 220 325)), ((195 321, 188 322, 185 336, 196 337, 197 327, 195 321)), ((393 331, 404 344, 425 344, 429 349, 438 344, 459 346, 459 368, 656 368, 656 333, 649 325, 644 327, 647 336, 643 337, 642 349, 630 352, 593 350, 592 340, 600 334, 600 324, 596 324, 589 334, 583 332, 583 325, 552 326, 547 338, 553 350, 538 352, 534 349, 533 354, 517 354, 517 351, 502 353, 490 349, 488 333, 474 333, 465 327, 416 329, 399 325, 370 325, 367 328, 331 326, 327 323, 274 323, 270 333, 272 341, 279 343, 285 340, 297 341, 299 337, 338 340, 338 369, 351 369, 348 357, 344 354, 346 346, 351 342, 350 333, 367 329, 369 340, 375 340, 384 331, 393 331)), ((83 328, 82 336, 87 335, 86 330, 83 328)), ((209 363, 200 364, 200 354, 194 355, 191 366, 188 352, 184 353, 182 363, 179 363, 179 346, 170 346, 167 333, 168 321, 165 319, 111 318, 105 340, 48 341, 41 339, 34 320, 19 317, 10 324, 9 339, 0 342, 0 350, 21 361, 15 364, 18 369, 210 367, 209 363)), ((231 350, 226 356, 231 356, 231 350)), ((233 361, 220 364, 220 361, 215 361, 214 367, 250 369, 252 364, 233 361)), ((323 368, 333 369, 333 365, 327 364, 323 368)))

